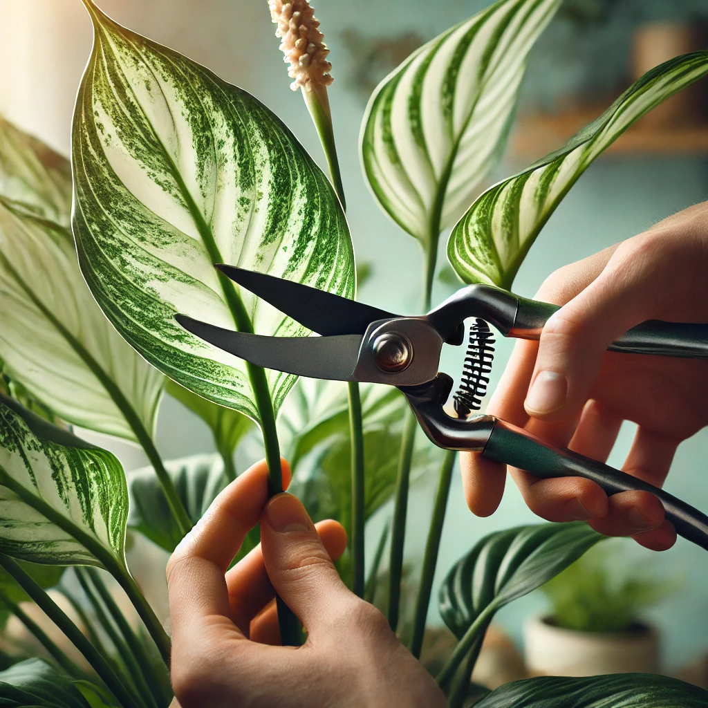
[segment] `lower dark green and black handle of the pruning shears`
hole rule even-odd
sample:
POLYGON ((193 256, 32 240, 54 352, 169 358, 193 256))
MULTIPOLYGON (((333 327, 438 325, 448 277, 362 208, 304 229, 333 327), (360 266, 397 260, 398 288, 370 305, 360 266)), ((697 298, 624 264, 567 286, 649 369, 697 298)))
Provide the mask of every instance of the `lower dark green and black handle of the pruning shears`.
POLYGON ((484 447, 484 457, 525 469, 539 477, 585 477, 599 484, 608 496, 622 491, 648 491, 657 496, 676 532, 708 551, 708 516, 663 489, 619 472, 607 464, 571 450, 547 445, 535 435, 498 418, 484 447))

